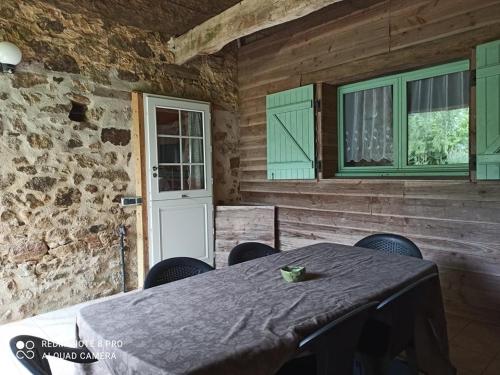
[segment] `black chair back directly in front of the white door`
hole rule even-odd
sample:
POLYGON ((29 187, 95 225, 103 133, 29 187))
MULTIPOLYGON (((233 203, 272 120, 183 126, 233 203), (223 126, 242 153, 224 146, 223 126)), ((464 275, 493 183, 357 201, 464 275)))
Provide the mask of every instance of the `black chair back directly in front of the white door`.
POLYGON ((213 269, 207 263, 194 258, 177 257, 165 259, 155 264, 149 270, 144 280, 144 289, 199 275, 213 269))

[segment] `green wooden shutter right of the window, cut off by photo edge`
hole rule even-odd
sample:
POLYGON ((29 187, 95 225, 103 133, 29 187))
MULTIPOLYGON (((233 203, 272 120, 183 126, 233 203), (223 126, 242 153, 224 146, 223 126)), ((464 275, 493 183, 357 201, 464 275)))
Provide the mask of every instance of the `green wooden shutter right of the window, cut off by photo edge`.
POLYGON ((500 40, 476 47, 477 179, 500 179, 500 40))

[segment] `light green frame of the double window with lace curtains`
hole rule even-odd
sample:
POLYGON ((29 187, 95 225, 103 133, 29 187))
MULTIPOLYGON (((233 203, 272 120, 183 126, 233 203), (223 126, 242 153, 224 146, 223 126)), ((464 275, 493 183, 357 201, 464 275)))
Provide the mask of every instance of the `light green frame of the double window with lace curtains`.
MULTIPOLYGON (((339 171, 337 176, 468 176, 469 164, 449 165, 408 165, 408 82, 437 77, 469 70, 469 61, 462 60, 449 64, 420 69, 407 73, 394 74, 368 81, 348 84, 338 88, 338 140, 339 171), (345 166, 344 150, 344 95, 357 91, 392 86, 393 101, 393 160, 392 166, 345 166)), ((470 125, 470 108, 469 108, 470 125)), ((469 152, 470 154, 470 152, 469 152)))

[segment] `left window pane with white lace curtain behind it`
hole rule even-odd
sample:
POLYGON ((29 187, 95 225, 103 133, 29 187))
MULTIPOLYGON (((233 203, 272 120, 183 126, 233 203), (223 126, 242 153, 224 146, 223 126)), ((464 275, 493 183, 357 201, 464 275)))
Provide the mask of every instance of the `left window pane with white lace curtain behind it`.
POLYGON ((392 86, 344 95, 345 166, 393 165, 392 86))

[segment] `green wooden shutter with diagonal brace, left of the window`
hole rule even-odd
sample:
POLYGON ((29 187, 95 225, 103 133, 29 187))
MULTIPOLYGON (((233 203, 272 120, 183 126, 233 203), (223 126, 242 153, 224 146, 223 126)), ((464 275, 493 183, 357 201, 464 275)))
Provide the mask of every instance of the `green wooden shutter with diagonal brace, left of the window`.
POLYGON ((313 85, 266 97, 267 178, 315 178, 313 85))

